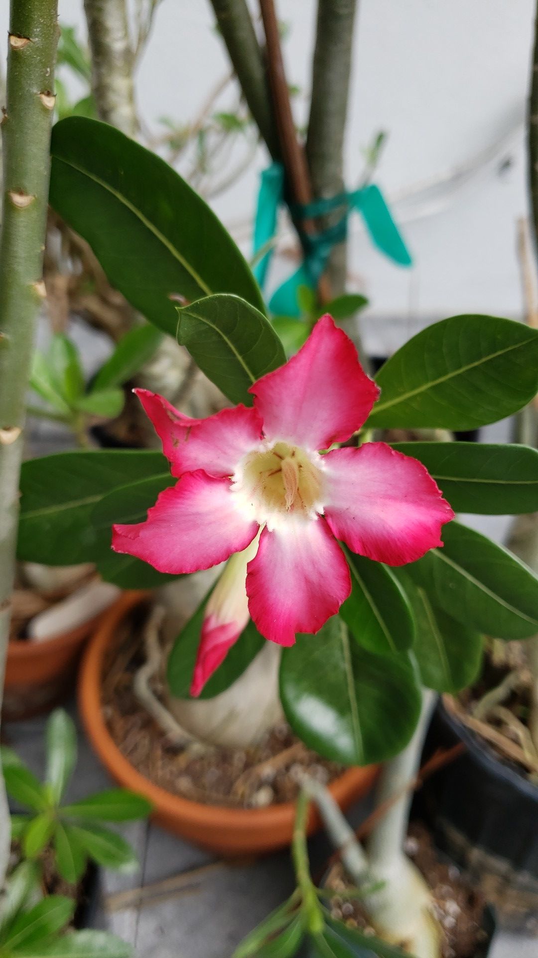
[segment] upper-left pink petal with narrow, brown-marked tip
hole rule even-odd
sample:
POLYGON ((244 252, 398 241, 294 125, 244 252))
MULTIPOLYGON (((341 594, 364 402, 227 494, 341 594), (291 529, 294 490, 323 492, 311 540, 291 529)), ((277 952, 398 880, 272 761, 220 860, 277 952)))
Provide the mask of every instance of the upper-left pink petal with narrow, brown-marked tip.
POLYGON ((174 476, 205 469, 213 476, 232 475, 239 460, 261 439, 261 419, 254 407, 221 409, 207 419, 184 416, 157 393, 135 389, 163 443, 174 476))

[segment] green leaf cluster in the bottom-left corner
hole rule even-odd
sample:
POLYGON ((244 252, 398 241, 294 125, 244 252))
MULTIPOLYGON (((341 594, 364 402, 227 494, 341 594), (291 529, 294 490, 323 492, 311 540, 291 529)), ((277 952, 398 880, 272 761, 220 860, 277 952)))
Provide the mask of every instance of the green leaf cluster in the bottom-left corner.
POLYGON ((0 899, 0 958, 129 958, 132 949, 107 931, 67 930, 76 901, 41 897, 36 862, 13 869, 0 899))

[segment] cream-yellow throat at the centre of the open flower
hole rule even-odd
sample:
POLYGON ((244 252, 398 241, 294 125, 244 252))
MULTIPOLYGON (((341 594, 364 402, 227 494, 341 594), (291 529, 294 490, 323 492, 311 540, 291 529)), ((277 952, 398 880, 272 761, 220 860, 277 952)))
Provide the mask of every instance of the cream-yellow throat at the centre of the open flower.
POLYGON ((323 513, 324 486, 322 457, 287 443, 249 452, 232 481, 236 507, 270 531, 323 513))

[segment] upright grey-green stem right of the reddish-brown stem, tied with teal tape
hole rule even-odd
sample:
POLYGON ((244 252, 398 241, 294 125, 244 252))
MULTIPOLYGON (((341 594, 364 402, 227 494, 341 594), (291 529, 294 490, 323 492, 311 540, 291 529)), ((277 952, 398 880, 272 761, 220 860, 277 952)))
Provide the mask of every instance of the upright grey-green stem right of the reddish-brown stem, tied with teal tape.
MULTIPOLYGON (((319 0, 316 47, 312 66, 312 99, 306 158, 312 190, 317 198, 331 197, 344 188, 344 136, 353 25, 357 0, 319 0)), ((333 225, 342 210, 324 217, 322 227, 333 225)), ((333 247, 328 281, 333 296, 346 287, 346 243, 333 247)))

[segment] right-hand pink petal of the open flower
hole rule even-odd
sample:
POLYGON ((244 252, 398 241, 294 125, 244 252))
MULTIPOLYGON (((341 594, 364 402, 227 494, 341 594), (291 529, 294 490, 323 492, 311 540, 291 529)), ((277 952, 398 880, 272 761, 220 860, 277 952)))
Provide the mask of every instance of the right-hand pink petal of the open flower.
POLYGON ((385 443, 324 456, 325 518, 353 552, 388 565, 415 562, 442 545, 454 513, 422 463, 385 443))

